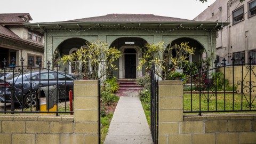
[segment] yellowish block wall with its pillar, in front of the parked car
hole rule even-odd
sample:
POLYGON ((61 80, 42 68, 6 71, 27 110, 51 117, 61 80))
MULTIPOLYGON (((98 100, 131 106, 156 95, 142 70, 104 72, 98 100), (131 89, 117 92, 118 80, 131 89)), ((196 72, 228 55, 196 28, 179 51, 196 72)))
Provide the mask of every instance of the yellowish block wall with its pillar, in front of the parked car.
POLYGON ((98 143, 98 81, 74 81, 74 115, 1 114, 0 143, 98 143))

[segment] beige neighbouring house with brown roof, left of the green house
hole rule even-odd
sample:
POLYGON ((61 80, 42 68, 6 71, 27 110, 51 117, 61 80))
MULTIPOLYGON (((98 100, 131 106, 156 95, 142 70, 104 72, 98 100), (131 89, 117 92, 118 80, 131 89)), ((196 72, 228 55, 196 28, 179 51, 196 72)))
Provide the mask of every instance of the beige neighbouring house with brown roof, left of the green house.
POLYGON ((12 66, 12 59, 16 59, 16 66, 21 65, 21 57, 25 59, 23 65, 29 65, 33 59, 33 66, 38 66, 38 60, 44 61, 44 36, 38 31, 26 28, 23 24, 32 20, 29 13, 0 14, 0 68, 3 60, 7 66, 12 66))

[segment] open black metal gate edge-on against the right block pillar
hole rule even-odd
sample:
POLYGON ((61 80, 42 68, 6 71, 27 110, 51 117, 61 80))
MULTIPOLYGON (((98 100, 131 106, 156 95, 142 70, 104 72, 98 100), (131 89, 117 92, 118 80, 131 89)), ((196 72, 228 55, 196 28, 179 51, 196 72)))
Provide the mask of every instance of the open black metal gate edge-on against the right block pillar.
POLYGON ((155 65, 150 70, 150 131, 153 143, 158 143, 158 80, 155 76, 155 65))

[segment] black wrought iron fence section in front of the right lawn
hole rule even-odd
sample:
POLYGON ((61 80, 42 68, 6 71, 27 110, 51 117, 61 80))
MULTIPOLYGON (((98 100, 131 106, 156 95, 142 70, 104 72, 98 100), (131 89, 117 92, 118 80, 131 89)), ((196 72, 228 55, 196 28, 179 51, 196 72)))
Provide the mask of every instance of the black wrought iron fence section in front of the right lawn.
POLYGON ((252 58, 241 64, 222 65, 214 68, 198 67, 198 73, 183 79, 183 113, 216 113, 256 111, 256 70, 252 58))

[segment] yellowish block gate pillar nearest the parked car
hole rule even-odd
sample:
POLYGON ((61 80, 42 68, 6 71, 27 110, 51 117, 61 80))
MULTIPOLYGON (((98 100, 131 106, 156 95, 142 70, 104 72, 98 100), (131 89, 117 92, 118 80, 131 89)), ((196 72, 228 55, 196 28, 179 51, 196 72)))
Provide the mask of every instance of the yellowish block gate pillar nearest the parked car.
POLYGON ((74 81, 74 133, 83 134, 85 143, 99 143, 99 81, 74 81))

